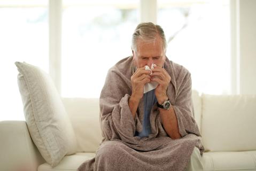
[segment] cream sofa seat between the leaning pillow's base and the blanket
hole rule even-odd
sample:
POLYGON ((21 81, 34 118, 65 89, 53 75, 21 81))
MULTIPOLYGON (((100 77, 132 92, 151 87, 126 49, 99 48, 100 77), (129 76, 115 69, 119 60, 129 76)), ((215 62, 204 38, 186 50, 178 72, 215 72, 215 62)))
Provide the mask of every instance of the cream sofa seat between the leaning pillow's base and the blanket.
POLYGON ((38 171, 71 171, 77 168, 86 160, 95 157, 95 153, 75 153, 70 156, 65 156, 60 163, 51 167, 48 163, 44 163, 38 167, 38 171))

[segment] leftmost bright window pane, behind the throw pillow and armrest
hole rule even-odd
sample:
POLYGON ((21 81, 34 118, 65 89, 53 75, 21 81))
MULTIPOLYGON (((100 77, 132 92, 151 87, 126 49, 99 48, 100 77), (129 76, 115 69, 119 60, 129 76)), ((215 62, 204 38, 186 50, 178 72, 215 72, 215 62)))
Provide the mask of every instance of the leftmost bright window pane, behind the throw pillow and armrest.
POLYGON ((48 71, 48 1, 0 1, 0 120, 24 120, 15 61, 48 71))

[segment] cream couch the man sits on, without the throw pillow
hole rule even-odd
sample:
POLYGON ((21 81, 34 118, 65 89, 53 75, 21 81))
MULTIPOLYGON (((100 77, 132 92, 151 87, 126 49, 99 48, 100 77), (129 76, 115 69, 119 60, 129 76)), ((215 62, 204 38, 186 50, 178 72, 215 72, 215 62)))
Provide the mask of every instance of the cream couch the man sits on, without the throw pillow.
MULTIPOLYGON (((256 97, 199 96, 193 91, 192 98, 206 148, 205 170, 256 170, 256 97)), ((1 171, 70 171, 95 156, 102 139, 98 99, 63 98, 63 102, 75 130, 77 152, 52 168, 38 152, 25 121, 1 121, 1 171)))

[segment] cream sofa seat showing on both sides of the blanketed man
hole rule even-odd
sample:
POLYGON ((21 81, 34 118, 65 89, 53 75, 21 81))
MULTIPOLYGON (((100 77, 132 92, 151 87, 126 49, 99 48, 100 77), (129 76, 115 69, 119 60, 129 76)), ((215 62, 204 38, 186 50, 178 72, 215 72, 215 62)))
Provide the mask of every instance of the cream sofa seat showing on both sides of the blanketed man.
MULTIPOLYGON (((44 163, 38 171, 71 171, 86 160, 95 157, 95 153, 75 153, 65 156, 56 167, 44 163)), ((256 170, 256 151, 241 152, 205 152, 202 157, 205 171, 256 170)))

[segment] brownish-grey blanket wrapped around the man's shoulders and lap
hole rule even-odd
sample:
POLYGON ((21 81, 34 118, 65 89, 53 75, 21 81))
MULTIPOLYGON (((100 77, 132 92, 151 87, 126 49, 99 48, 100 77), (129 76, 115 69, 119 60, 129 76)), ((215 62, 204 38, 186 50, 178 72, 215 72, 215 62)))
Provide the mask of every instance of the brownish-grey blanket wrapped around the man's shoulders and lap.
POLYGON ((195 146, 203 153, 200 131, 193 118, 190 73, 168 58, 164 67, 171 77, 167 96, 173 105, 182 138, 172 139, 167 135, 156 104, 150 114, 152 134, 144 138, 134 136, 136 130, 142 131, 143 99, 133 119, 128 99, 134 65, 133 57, 128 57, 108 71, 100 95, 100 121, 104 139, 96 152, 96 158, 85 161, 79 170, 177 171, 187 166, 195 146))

